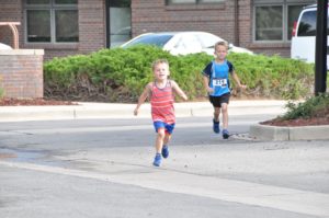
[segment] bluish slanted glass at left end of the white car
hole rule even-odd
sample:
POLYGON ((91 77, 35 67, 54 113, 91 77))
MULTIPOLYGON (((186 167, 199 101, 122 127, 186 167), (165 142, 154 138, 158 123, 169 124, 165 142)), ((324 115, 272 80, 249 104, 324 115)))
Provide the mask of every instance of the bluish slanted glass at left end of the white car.
POLYGON ((132 41, 125 47, 146 44, 146 45, 156 45, 162 48, 166 45, 166 43, 170 41, 170 38, 172 38, 172 35, 144 35, 136 38, 135 41, 132 41))

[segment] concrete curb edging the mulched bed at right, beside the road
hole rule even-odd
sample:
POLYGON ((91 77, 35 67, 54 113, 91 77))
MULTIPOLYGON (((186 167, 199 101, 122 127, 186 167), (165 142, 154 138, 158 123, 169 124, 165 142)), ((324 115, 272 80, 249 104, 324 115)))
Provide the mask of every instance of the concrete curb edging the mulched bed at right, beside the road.
POLYGON ((329 125, 279 127, 268 125, 250 126, 249 136, 259 140, 328 140, 329 125))

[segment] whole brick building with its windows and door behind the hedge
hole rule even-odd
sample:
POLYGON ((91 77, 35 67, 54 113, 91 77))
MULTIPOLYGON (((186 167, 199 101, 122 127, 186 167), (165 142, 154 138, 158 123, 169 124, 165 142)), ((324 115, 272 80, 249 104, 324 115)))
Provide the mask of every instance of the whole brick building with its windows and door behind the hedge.
MULTIPOLYGON (((20 48, 45 59, 88 54, 138 34, 205 31, 256 53, 290 56, 299 11, 316 0, 0 0, 0 22, 20 22, 20 48)), ((12 45, 8 26, 0 42, 12 45)))

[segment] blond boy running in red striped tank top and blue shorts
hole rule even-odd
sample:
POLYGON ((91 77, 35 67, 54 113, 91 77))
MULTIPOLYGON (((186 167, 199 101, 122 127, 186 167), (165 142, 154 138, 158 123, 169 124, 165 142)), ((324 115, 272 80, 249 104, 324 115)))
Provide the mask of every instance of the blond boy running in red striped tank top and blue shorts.
POLYGON ((166 59, 156 60, 151 68, 155 81, 149 82, 145 87, 138 99, 134 114, 135 116, 138 115, 140 105, 149 97, 151 104, 151 117, 157 133, 154 165, 160 167, 162 157, 168 158, 169 156, 168 144, 175 124, 173 107, 174 93, 185 101, 188 100, 188 96, 173 80, 168 78, 170 71, 169 64, 166 59))

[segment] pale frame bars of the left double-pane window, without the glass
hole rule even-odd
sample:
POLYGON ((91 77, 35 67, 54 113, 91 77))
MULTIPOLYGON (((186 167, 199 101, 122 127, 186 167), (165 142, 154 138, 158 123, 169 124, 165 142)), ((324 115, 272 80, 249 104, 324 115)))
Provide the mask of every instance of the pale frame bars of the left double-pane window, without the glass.
MULTIPOLYGON (((41 44, 46 44, 46 45, 60 45, 60 44, 78 44, 79 43, 79 31, 78 31, 78 41, 77 42, 56 42, 56 11, 60 10, 60 11, 77 11, 77 13, 79 13, 78 10, 78 1, 77 4, 56 4, 55 3, 56 0, 49 0, 49 3, 47 4, 29 4, 26 0, 24 0, 24 44, 26 45, 41 45, 41 44), (49 11, 49 15, 50 15, 50 42, 29 42, 29 30, 27 30, 27 11, 37 11, 37 10, 47 10, 49 11)), ((78 25, 79 25, 79 21, 78 21, 78 25)), ((79 30, 79 26, 78 26, 79 30)))

